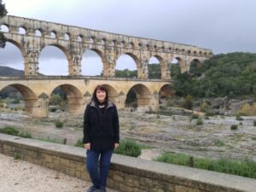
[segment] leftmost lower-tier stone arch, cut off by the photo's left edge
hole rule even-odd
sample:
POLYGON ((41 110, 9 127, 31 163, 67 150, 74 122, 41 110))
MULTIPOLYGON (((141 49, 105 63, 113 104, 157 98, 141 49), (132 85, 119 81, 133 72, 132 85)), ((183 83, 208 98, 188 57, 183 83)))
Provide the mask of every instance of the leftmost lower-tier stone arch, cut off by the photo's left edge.
MULTIPOLYGON (((38 116, 37 109, 40 108, 40 105, 38 103, 38 97, 29 87, 23 84, 9 84, 7 86, 15 88, 15 90, 18 90, 20 94, 23 96, 26 113, 30 114, 31 116, 38 116)), ((3 87, 3 89, 5 87, 3 87)))

